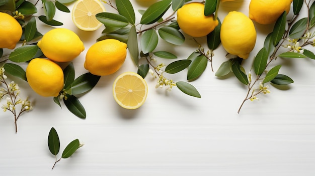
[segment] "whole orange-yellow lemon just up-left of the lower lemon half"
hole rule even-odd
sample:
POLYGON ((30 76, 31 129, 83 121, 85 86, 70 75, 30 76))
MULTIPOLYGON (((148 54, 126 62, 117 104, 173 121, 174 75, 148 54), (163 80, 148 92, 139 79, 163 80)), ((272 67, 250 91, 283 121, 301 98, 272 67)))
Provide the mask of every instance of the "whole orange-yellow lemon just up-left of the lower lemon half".
POLYGON ((93 44, 86 55, 84 68, 94 75, 115 73, 125 62, 127 45, 116 39, 105 39, 93 44))

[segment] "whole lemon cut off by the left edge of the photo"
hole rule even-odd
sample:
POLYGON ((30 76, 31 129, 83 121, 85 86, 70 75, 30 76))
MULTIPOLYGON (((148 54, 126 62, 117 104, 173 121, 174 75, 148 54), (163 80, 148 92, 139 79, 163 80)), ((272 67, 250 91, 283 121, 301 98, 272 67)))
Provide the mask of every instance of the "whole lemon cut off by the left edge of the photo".
POLYGON ((22 36, 22 27, 11 15, 0 12, 0 48, 14 49, 22 36))

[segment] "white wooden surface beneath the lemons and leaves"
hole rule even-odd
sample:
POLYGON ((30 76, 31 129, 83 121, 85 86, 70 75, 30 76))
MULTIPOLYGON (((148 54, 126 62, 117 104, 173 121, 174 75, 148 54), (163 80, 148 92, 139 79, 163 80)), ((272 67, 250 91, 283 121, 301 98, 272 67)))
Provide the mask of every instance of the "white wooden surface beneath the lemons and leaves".
MULTIPOLYGON (((145 9, 133 0, 132 3, 136 11, 145 9)), ((248 5, 249 0, 222 3, 219 18, 231 10, 248 15, 248 5)), ((105 8, 114 12, 107 5, 105 8)), ((80 31, 73 25, 71 15, 60 11, 55 19, 85 43, 86 50, 73 63, 76 76, 86 73, 85 53, 103 28, 80 31)), ((41 22, 37 25, 42 33, 52 29, 41 22)), ((255 26, 258 40, 245 62, 247 70, 273 27, 255 26)), ((206 47, 203 38, 197 40, 206 47)), ((198 46, 186 36, 184 46, 172 49, 163 43, 159 47, 185 59, 198 46)), ((224 55, 222 47, 215 51, 215 71, 226 60, 224 55)), ((191 82, 201 99, 186 96, 177 88, 171 92, 155 89, 155 80, 148 75, 147 100, 139 109, 130 111, 119 107, 112 97, 114 79, 125 71, 136 72, 128 55, 117 73, 102 77, 91 92, 80 97, 87 110, 85 120, 16 80, 22 94, 35 103, 34 110, 18 120, 18 133, 12 114, 1 112, 0 175, 315 175, 315 62, 279 59, 274 64, 282 64, 280 72, 295 83, 285 90, 270 86, 270 94, 259 96, 260 101, 246 102, 240 114, 237 110, 246 87, 233 76, 216 78, 210 67, 191 82), (70 158, 61 159, 53 170, 55 158, 47 145, 51 127, 60 138, 58 157, 73 139, 85 143, 70 158)), ((169 77, 185 81, 186 73, 169 77)))

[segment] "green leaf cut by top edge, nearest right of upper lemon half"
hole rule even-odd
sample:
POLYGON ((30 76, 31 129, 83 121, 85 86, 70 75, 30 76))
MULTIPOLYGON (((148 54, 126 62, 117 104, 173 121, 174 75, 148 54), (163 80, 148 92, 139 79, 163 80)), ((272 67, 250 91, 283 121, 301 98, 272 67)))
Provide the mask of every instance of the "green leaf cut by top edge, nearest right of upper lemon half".
POLYGON ((129 0, 116 0, 116 7, 120 15, 126 17, 131 25, 135 23, 135 14, 129 0))

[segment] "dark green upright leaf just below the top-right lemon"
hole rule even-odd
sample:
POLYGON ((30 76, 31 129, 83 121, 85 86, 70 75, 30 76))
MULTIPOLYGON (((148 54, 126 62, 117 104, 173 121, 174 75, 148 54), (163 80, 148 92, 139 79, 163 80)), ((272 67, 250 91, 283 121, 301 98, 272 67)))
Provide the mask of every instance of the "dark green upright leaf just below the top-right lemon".
POLYGON ((285 25, 286 25, 286 12, 284 11, 282 15, 276 21, 276 24, 273 28, 273 32, 272 32, 273 46, 277 46, 280 40, 282 39, 282 36, 284 35, 284 32, 285 32, 285 25))

